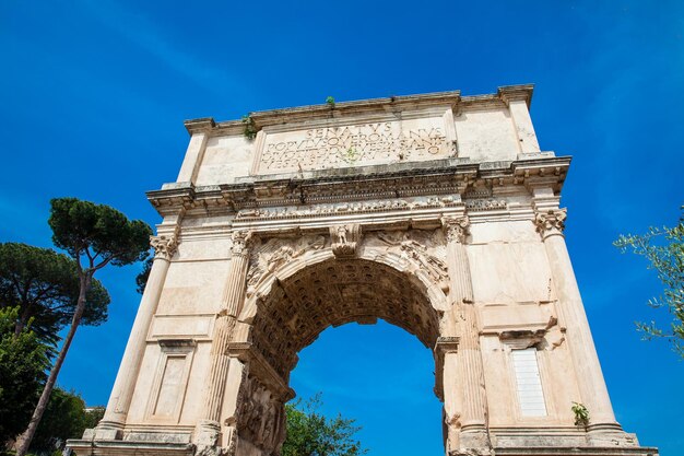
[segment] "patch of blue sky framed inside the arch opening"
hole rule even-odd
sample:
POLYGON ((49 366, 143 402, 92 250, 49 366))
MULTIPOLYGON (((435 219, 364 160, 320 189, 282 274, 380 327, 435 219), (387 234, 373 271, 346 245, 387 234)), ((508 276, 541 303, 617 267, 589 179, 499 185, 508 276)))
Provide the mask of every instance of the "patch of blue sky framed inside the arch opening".
POLYGON ((356 419, 370 456, 436 456, 444 445, 434 369, 432 350, 378 319, 326 329, 299 352, 290 385, 298 398, 322 393, 320 412, 356 419))

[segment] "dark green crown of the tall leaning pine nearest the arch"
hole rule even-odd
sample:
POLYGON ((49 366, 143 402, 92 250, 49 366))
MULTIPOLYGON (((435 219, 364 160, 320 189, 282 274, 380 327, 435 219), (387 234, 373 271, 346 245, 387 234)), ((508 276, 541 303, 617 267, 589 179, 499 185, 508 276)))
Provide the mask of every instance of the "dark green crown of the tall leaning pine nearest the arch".
POLYGON ((152 229, 140 220, 129 221, 116 209, 76 198, 50 201, 52 242, 76 261, 87 257, 90 269, 107 264, 130 265, 148 257, 152 229))

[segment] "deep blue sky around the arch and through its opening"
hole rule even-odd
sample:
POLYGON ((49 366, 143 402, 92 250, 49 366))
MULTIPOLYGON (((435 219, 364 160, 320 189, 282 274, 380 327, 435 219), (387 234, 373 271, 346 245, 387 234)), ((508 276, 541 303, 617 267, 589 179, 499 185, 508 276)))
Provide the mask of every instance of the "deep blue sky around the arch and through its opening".
MULTIPOLYGON (((542 149, 574 155, 566 237, 618 421, 684 453, 684 364, 634 320, 652 271, 611 243, 674 224, 684 203, 684 3, 4 1, 0 3, 0 242, 50 246, 52 197, 160 221, 145 190, 173 182, 182 120, 534 83, 542 149)), ((105 404, 139 296, 137 267, 99 279, 109 321, 82 328, 59 378, 105 404)), ((432 356, 386 324, 325 331, 300 353, 299 395, 354 417, 372 455, 441 453, 432 356), (408 437, 409 436, 409 437, 408 437)))

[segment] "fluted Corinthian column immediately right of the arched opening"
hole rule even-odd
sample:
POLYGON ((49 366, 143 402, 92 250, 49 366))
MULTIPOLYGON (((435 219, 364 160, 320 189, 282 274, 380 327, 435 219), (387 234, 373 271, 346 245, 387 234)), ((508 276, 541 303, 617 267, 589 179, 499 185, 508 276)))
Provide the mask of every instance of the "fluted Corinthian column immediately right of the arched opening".
MULTIPOLYGON (((477 315, 473 305, 470 265, 464 246, 470 222, 468 217, 461 215, 445 217, 441 223, 447 236, 449 294, 452 296, 452 305, 457 307, 457 315, 460 316, 458 351, 446 354, 447 358, 456 358, 457 378, 445 376, 444 382, 446 384, 456 381, 457 387, 461 390, 462 410, 458 420, 461 428, 459 446, 486 449, 491 445, 487 432, 484 371, 480 352, 477 315)), ((445 359, 445 365, 449 364, 453 364, 453 361, 445 359)))

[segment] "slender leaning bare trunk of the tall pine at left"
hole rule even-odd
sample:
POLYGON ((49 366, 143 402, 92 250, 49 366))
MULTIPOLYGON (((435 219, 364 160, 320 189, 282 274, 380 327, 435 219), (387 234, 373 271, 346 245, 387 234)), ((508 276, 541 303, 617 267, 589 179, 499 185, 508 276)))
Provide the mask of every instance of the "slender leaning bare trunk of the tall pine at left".
POLYGON ((71 319, 69 332, 64 338, 64 343, 59 351, 57 360, 55 360, 55 365, 50 371, 50 375, 45 383, 45 387, 43 388, 43 394, 40 395, 38 405, 36 406, 36 409, 33 412, 33 417, 31 417, 31 421, 28 422, 28 428, 26 428, 26 431, 24 431, 24 433, 20 435, 16 440, 16 456, 26 455, 26 453, 28 452, 28 447, 31 446, 31 442, 33 441, 33 437, 36 433, 36 430, 38 429, 38 424, 40 424, 40 419, 43 418, 43 413, 45 413, 45 409, 47 408, 48 401, 50 400, 52 388, 55 387, 55 383, 57 383, 57 376, 59 375, 59 371, 61 370, 62 364, 64 363, 64 359, 67 358, 67 352, 69 351, 69 347, 71 346, 73 336, 75 336, 79 324, 81 323, 81 317, 83 316, 83 311, 85 309, 85 296, 90 291, 93 281, 93 272, 94 271, 92 270, 87 270, 86 272, 81 274, 79 301, 76 303, 76 308, 73 313, 73 318, 71 319))

